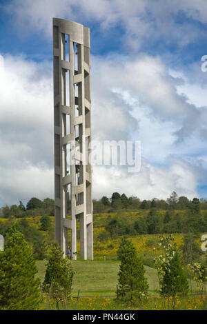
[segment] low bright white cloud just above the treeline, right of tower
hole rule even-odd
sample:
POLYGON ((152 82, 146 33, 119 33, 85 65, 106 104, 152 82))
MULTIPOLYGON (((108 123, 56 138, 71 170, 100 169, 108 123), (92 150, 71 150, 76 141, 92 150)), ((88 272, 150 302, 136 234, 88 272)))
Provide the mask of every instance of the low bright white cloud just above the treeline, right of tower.
POLYGON ((141 161, 137 174, 126 172, 126 168, 111 166, 93 168, 93 194, 95 198, 111 196, 113 192, 123 192, 139 199, 166 199, 172 191, 189 199, 197 196, 197 183, 201 170, 180 160, 171 161, 169 166, 157 167, 141 161))

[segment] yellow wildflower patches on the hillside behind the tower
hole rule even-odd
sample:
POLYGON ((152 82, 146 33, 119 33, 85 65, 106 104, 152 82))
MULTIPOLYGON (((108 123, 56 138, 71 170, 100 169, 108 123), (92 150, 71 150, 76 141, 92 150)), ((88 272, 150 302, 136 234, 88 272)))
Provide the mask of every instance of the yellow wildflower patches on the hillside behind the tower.
MULTIPOLYGON (((164 215, 165 211, 159 211, 159 214, 164 215)), ((139 212, 114 212, 110 213, 112 217, 119 216, 127 217, 129 222, 135 222, 139 217, 146 216, 148 214, 148 210, 139 211, 139 212)), ((100 239, 99 234, 105 231, 105 225, 107 223, 109 214, 101 213, 93 215, 93 225, 94 225, 94 257, 95 259, 103 260, 103 256, 105 256, 106 260, 108 259, 117 259, 117 250, 119 248, 119 244, 121 241, 121 236, 117 238, 106 237, 106 239, 100 239)), ((36 227, 39 229, 41 216, 27 217, 29 225, 36 227)), ((52 233, 55 232, 54 221, 55 218, 50 216, 51 224, 52 224, 52 233)), ((20 219, 17 219, 19 221, 20 219)), ((0 219, 0 221, 6 222, 7 219, 0 219)), ((42 232, 44 236, 46 236, 46 240, 48 240, 48 232, 42 232)), ((167 235, 167 234, 166 234, 167 235)), ((53 234, 52 234, 53 236, 53 234)), ((173 234, 175 238, 175 243, 179 247, 182 244, 183 234, 176 233, 173 234)), ((51 235, 50 235, 51 237, 51 235)), ((137 247, 139 254, 141 254, 144 259, 144 263, 146 265, 152 266, 152 259, 155 255, 159 254, 159 245, 157 244, 159 241, 159 234, 142 234, 131 236, 132 242, 137 247)), ((70 230, 68 230, 68 241, 70 242, 70 230)), ((198 243, 201 241, 198 239, 198 243)), ((77 221, 77 253, 79 257, 80 245, 79 245, 79 221, 77 221)))

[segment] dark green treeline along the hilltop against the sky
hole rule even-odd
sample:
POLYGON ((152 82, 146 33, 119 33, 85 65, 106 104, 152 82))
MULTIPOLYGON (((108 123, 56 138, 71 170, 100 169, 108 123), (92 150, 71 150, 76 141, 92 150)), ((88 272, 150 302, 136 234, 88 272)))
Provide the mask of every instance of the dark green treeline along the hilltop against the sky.
MULTIPOLYGON (((126 194, 119 194, 114 192, 111 197, 102 196, 101 199, 93 200, 93 212, 119 212, 129 211, 136 212, 138 210, 150 210, 156 208, 157 210, 188 210, 192 203, 199 204, 199 209, 207 210, 207 200, 194 198, 190 201, 186 196, 177 196, 176 192, 172 192, 170 197, 166 200, 153 198, 151 200, 140 200, 136 196, 126 196, 126 194)), ((70 214, 71 202, 68 200, 68 214, 70 214)), ((41 201, 38 198, 32 197, 26 205, 19 201, 19 205, 4 205, 0 209, 1 216, 9 218, 14 216, 16 218, 23 218, 29 216, 54 216, 55 201, 50 198, 41 201)))

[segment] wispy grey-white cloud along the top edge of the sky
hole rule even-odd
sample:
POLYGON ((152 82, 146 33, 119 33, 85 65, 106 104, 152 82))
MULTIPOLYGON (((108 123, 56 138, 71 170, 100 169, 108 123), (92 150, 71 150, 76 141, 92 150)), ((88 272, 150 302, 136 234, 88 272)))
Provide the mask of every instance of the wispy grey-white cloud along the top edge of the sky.
POLYGON ((119 24, 124 30, 123 42, 135 50, 159 39, 166 45, 193 43, 205 36, 204 30, 188 19, 177 23, 177 16, 184 14, 201 23, 207 17, 206 0, 13 0, 1 7, 24 34, 38 30, 51 36, 52 17, 87 25, 96 22, 104 32, 119 24))

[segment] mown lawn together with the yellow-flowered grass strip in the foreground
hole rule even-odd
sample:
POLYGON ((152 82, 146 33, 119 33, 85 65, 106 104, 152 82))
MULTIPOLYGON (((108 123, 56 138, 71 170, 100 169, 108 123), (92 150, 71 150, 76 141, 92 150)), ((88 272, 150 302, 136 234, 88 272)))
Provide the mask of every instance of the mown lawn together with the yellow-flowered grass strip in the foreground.
MULTIPOLYGON (((149 283, 148 300, 144 303, 124 303, 117 301, 117 273, 119 261, 71 261, 76 274, 72 284, 72 300, 64 305, 59 303, 60 310, 172 310, 172 298, 160 297, 155 294, 159 288, 157 271, 145 266, 149 283), (78 290, 79 299, 77 300, 78 290), (114 297, 114 298, 112 298, 114 297)), ((46 261, 37 261, 39 278, 43 281, 46 271, 46 261)), ((193 282, 193 290, 197 291, 193 282)), ((175 310, 206 310, 207 301, 201 296, 177 296, 175 310)), ((56 310, 56 301, 45 296, 41 310, 56 310), (48 308, 47 308, 48 307, 48 308)))

